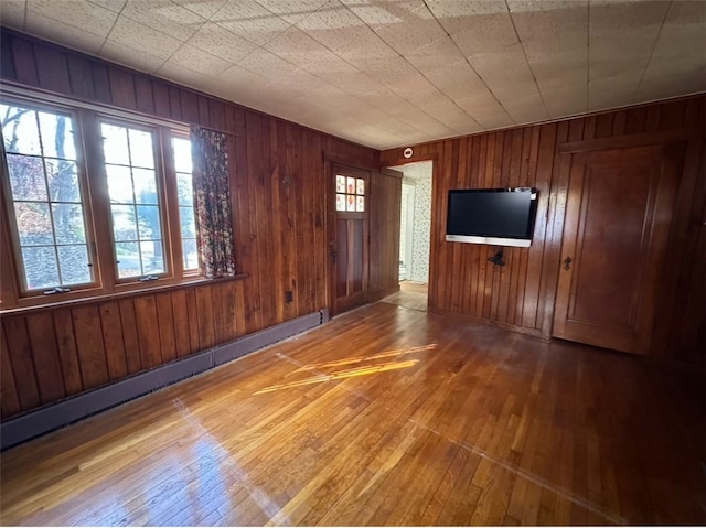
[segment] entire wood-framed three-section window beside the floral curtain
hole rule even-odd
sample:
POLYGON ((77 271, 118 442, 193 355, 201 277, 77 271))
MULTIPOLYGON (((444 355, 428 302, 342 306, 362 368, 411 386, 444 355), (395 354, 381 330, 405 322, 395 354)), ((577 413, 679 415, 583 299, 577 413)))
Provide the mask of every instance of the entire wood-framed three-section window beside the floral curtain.
POLYGON ((3 309, 199 276, 185 130, 4 97, 0 118, 3 309))

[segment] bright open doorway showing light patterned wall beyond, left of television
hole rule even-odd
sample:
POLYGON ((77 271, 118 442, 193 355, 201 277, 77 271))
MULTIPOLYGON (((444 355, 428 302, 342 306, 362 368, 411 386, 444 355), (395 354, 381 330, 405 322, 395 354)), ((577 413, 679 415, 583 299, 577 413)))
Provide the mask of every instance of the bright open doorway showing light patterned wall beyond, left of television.
MULTIPOLYGON (((391 166, 404 174, 399 229, 399 292, 397 304, 427 308, 431 238, 431 176, 434 162, 391 166)), ((391 295, 393 297, 393 295, 391 295)))

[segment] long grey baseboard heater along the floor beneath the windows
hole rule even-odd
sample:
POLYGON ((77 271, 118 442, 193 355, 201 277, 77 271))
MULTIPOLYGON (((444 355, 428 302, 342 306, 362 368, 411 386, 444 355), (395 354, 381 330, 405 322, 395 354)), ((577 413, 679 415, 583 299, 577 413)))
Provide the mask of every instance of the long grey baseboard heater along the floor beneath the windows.
POLYGON ((204 373, 328 321, 329 311, 320 310, 10 419, 0 423, 0 450, 204 373))

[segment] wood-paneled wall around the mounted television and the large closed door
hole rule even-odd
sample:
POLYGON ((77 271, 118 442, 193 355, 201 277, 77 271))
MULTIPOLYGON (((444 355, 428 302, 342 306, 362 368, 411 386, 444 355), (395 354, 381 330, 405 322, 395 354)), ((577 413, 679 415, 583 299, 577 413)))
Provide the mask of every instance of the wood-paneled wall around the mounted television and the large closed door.
POLYGON ((605 139, 620 147, 627 137, 678 132, 692 136, 674 204, 680 218, 671 233, 670 270, 676 290, 662 295, 655 325, 663 327, 661 353, 704 364, 704 130, 705 97, 597 114, 546 125, 420 144, 381 154, 385 166, 434 160, 429 306, 548 337, 559 270, 567 182, 559 177, 560 146, 605 139), (530 248, 505 248, 506 266, 488 261, 494 246, 447 243, 450 188, 536 186, 539 204, 530 248))

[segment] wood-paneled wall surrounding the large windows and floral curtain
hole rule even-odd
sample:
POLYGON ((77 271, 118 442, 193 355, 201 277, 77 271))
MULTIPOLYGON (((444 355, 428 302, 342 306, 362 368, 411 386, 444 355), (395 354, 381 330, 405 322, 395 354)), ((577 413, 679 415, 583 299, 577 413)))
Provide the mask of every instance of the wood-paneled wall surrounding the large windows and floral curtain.
POLYGON ((323 152, 374 169, 377 151, 13 31, 3 29, 0 44, 8 84, 233 134, 246 276, 3 315, 3 419, 328 308, 323 152))

